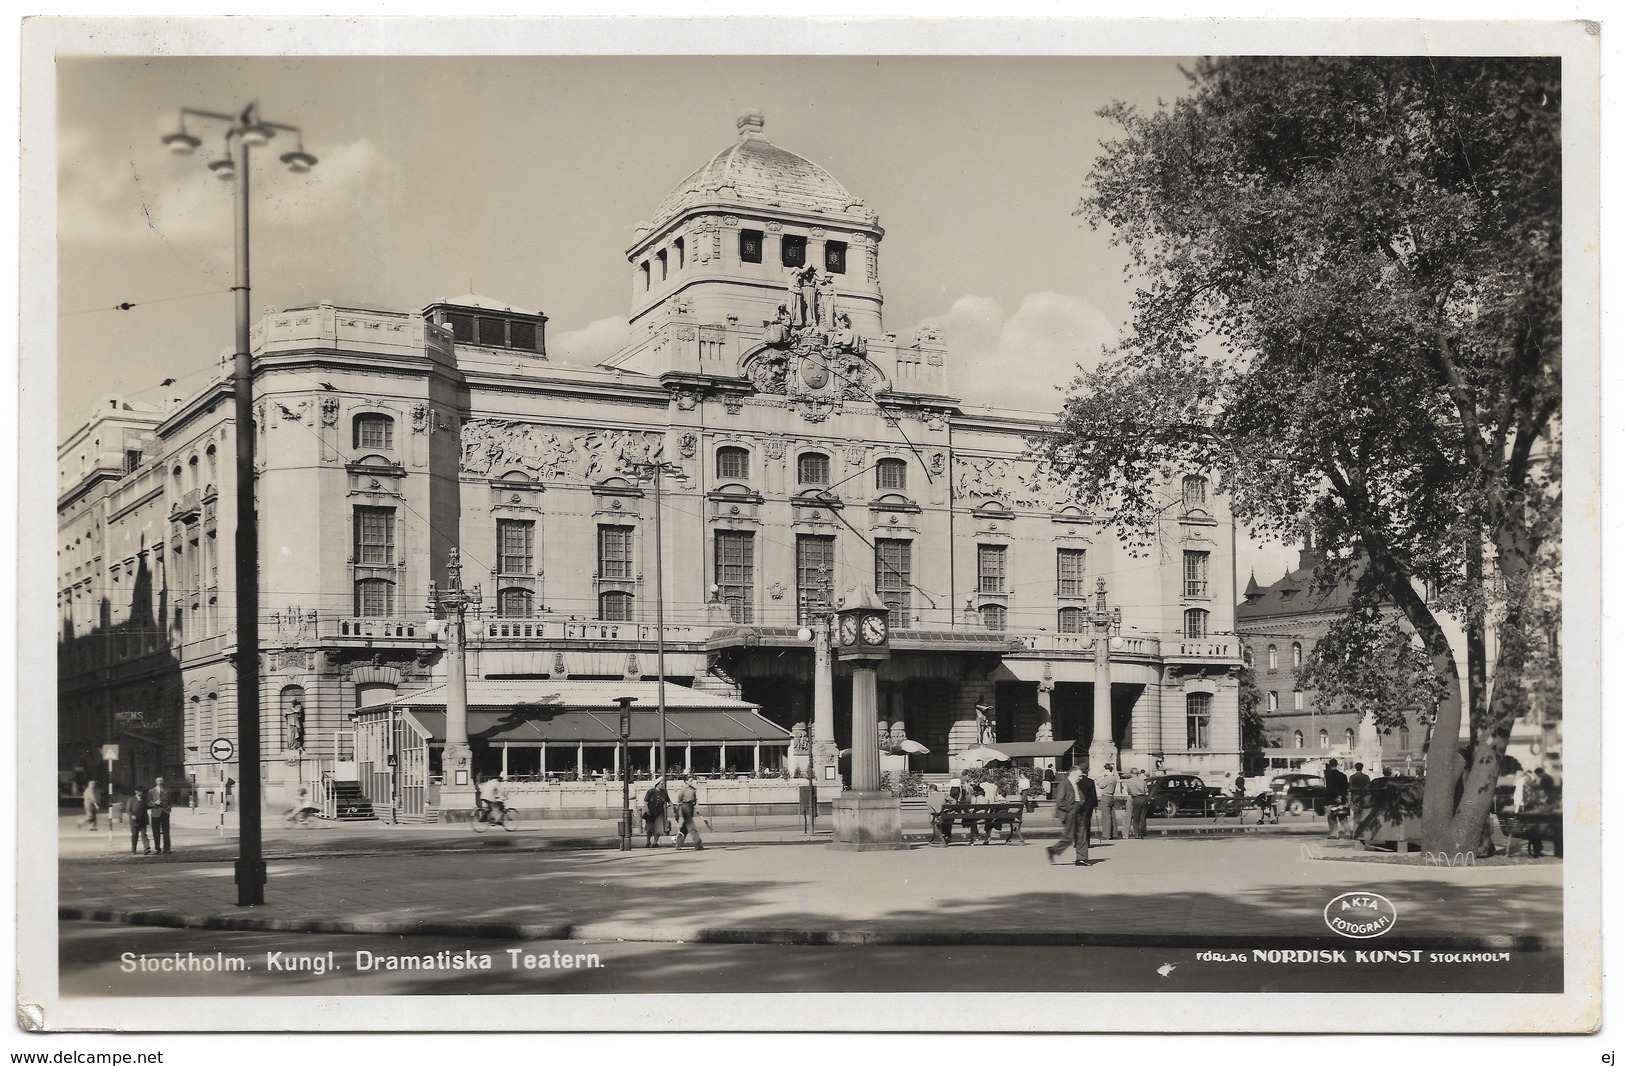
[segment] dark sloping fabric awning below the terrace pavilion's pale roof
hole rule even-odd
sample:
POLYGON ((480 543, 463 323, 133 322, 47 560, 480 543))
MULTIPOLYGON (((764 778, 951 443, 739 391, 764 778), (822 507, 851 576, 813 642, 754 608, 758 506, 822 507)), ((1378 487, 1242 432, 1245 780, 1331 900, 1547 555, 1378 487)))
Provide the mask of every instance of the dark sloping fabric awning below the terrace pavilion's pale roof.
MULTIPOLYGON (((411 708, 405 715, 427 734, 431 743, 445 741, 445 712, 411 708)), ((613 748, 621 743, 619 712, 603 710, 470 710, 468 739, 474 744, 510 744, 541 748, 543 744, 587 744, 613 748)), ((660 741, 660 713, 632 710, 632 744, 660 741)), ((670 710, 666 712, 666 744, 788 744, 790 733, 751 712, 670 710)))

